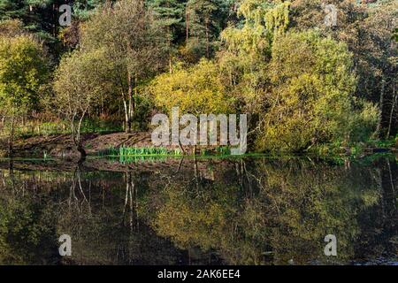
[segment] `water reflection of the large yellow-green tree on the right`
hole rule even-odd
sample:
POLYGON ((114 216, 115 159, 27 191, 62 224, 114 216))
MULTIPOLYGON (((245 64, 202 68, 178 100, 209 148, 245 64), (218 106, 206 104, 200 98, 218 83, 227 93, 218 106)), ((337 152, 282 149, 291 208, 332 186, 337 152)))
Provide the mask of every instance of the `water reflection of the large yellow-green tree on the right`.
POLYGON ((377 201, 377 192, 361 192, 360 184, 350 181, 354 170, 304 164, 281 167, 285 169, 265 166, 269 177, 260 193, 272 199, 268 208, 268 217, 275 222, 271 241, 281 263, 294 258, 304 264, 311 257, 323 256, 323 239, 329 233, 338 238, 338 260, 353 256, 350 244, 359 233, 356 210, 365 208, 364 197, 377 201))

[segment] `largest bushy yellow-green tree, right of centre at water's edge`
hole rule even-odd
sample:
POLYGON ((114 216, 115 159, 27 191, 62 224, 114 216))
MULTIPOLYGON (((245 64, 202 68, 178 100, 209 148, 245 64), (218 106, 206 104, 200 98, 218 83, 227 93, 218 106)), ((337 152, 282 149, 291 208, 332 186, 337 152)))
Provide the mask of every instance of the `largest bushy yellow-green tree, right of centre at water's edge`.
POLYGON ((227 89, 252 114, 257 149, 301 151, 320 142, 368 139, 377 109, 353 97, 347 46, 307 28, 289 32, 295 25, 291 6, 245 0, 241 25, 221 34, 218 62, 227 89))

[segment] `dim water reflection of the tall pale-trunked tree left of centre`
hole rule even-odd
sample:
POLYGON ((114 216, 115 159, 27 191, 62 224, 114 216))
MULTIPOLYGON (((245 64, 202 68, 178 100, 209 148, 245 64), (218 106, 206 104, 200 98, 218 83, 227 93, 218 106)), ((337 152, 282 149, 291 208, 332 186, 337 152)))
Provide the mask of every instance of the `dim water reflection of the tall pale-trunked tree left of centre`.
POLYGON ((133 172, 81 172, 76 184, 77 200, 59 218, 59 234, 70 234, 73 264, 165 264, 176 263, 180 251, 138 219, 140 175, 133 172), (106 180, 106 181, 103 181, 106 180), (88 199, 88 203, 85 200, 88 199))

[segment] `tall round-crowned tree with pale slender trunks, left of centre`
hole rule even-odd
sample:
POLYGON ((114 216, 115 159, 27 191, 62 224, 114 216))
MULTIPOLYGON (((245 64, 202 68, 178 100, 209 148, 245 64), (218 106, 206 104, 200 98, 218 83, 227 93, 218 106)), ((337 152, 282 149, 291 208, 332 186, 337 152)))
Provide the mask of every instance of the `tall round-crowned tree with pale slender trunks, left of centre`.
POLYGON ((103 83, 111 82, 113 92, 121 98, 126 132, 132 130, 138 87, 164 68, 166 47, 166 36, 143 1, 108 4, 81 29, 82 50, 107 50, 108 64, 113 68, 103 83))

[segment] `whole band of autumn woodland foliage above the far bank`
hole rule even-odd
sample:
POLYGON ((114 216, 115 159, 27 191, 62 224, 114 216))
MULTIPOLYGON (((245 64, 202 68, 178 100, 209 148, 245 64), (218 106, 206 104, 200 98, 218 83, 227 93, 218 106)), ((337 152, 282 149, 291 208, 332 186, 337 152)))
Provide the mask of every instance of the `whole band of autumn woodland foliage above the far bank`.
POLYGON ((83 132, 109 116, 128 132, 174 106, 249 113, 258 150, 396 134, 396 1, 331 0, 336 27, 318 0, 76 0, 66 28, 57 26, 59 4, 0 0, 0 115, 23 121, 16 134, 65 131, 29 121, 54 108, 83 132), (57 57, 70 51, 51 75, 55 96, 42 44, 57 57))

